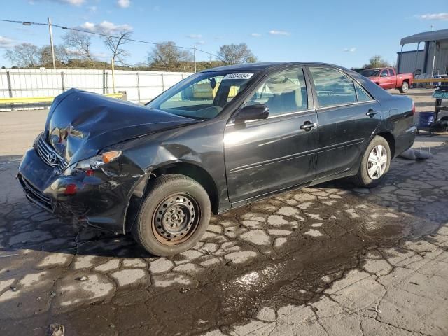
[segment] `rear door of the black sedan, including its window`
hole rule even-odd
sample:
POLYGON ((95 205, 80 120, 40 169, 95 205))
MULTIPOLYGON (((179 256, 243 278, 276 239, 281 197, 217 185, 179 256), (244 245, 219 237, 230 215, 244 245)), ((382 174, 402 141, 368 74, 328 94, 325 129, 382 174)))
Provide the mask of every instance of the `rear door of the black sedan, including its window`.
POLYGON ((310 66, 318 119, 316 179, 358 162, 381 120, 381 106, 339 69, 310 66))

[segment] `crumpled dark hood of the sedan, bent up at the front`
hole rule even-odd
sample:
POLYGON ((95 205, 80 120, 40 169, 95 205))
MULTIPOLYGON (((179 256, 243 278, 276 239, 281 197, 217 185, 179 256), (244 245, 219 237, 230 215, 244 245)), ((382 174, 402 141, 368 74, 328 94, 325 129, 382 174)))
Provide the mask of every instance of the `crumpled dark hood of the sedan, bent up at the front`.
POLYGON ((45 137, 66 162, 96 155, 107 146, 198 120, 70 89, 55 98, 45 137))

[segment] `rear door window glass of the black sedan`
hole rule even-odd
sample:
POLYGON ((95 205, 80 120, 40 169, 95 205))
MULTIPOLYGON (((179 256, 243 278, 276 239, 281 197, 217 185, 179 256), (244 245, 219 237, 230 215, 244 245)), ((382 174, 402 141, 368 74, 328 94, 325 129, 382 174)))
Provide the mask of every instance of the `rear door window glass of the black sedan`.
POLYGON ((319 106, 342 105, 356 102, 353 80, 336 69, 309 68, 316 87, 319 106))

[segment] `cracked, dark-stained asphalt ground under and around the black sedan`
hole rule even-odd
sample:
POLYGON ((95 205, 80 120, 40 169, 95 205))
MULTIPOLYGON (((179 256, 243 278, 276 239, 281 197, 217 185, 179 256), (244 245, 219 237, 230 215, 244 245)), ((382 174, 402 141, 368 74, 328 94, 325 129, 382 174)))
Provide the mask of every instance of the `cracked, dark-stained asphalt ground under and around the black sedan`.
POLYGON ((0 335, 448 335, 448 148, 424 139, 434 157, 394 160, 378 188, 326 183, 214 216, 173 258, 29 204, 7 149, 0 335))

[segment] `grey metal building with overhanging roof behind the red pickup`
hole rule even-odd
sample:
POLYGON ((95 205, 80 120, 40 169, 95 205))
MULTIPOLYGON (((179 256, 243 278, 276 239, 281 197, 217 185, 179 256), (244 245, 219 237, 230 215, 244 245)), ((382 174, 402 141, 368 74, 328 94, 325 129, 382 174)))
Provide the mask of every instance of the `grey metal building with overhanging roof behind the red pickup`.
POLYGON ((448 29, 425 31, 401 39, 401 51, 397 57, 397 72, 408 73, 421 70, 423 75, 433 77, 448 73, 448 29), (416 43, 416 50, 403 51, 405 44, 416 43), (423 44, 423 50, 420 48, 423 44))

